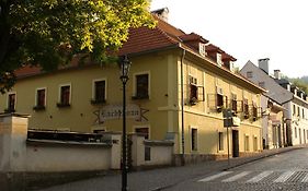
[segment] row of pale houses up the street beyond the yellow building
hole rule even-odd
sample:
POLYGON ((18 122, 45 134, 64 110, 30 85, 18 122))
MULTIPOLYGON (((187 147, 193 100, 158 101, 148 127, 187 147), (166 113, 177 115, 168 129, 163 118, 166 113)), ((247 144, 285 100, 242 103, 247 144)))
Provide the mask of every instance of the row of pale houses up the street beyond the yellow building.
POLYGON ((261 97, 264 147, 304 144, 308 141, 306 96, 288 81, 281 79, 278 70, 271 76, 269 60, 260 59, 259 67, 248 61, 240 71, 267 91, 261 97))

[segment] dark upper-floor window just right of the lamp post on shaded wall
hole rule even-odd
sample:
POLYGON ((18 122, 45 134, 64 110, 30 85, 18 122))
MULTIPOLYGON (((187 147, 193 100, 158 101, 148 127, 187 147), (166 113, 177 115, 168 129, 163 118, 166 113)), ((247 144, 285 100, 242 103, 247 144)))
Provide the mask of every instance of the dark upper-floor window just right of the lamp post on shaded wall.
POLYGON ((135 99, 149 98, 149 74, 136 75, 136 93, 133 98, 135 99))

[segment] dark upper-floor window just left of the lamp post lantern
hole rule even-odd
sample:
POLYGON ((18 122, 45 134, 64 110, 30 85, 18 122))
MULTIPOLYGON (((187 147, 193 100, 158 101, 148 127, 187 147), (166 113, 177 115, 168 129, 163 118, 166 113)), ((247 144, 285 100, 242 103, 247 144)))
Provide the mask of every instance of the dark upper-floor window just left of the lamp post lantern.
POLYGON ((106 100, 106 82, 104 80, 94 81, 93 83, 93 99, 91 104, 103 104, 106 100))

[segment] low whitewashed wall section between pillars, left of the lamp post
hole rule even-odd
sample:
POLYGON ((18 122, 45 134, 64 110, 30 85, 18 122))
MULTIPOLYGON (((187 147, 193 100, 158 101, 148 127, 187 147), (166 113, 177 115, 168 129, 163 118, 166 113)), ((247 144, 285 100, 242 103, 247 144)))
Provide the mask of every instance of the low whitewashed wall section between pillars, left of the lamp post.
POLYGON ((26 171, 106 170, 111 148, 80 145, 35 145, 26 147, 26 171))

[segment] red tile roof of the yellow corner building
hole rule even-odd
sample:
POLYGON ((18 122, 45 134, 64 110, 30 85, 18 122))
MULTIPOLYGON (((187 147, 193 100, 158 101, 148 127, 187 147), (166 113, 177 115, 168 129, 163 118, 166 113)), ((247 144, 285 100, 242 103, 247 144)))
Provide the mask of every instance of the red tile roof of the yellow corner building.
MULTIPOLYGON (((150 50, 168 48, 171 46, 178 46, 179 44, 182 44, 183 47, 186 48, 190 47, 190 49, 193 48, 191 50, 198 53, 198 47, 196 46, 196 43, 208 43, 207 39, 195 33, 185 34, 183 31, 160 20, 157 15, 153 15, 153 17, 158 22, 155 28, 151 29, 148 27, 139 27, 129 29, 128 40, 124 43, 123 47, 118 50, 118 55, 146 52, 150 50)), ((206 49, 207 51, 224 52, 219 47, 216 47, 212 44, 207 46, 206 49)), ((76 67, 76 60, 73 60, 72 64, 69 67, 72 65, 76 67)), ((35 75, 38 73, 42 73, 41 68, 28 65, 15 71, 18 77, 35 75)))

